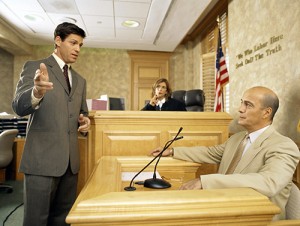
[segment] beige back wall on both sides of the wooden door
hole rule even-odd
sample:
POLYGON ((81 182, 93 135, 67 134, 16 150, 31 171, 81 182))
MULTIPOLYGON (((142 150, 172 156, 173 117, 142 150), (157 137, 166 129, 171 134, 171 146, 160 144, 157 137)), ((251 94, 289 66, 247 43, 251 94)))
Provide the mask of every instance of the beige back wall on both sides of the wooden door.
MULTIPOLYGON (((179 46, 170 58, 170 83, 173 90, 200 87, 200 54, 193 45, 189 43, 187 46, 179 46)), ((45 58, 52 52, 53 46, 33 46, 31 55, 15 56, 14 87, 25 61, 45 58)), ((83 47, 73 68, 87 80, 87 98, 99 98, 101 94, 125 97, 126 110, 130 109, 131 70, 126 50, 83 47)))

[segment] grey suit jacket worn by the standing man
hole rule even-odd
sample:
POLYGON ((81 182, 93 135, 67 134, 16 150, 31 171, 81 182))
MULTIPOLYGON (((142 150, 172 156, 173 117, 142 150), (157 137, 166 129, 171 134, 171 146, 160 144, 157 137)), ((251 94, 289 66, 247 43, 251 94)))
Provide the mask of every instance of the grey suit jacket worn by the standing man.
POLYGON ((79 171, 78 117, 88 116, 86 81, 71 69, 72 89, 68 91, 63 72, 53 56, 26 62, 12 103, 19 116, 29 115, 20 172, 61 176, 68 164, 79 171), (46 92, 38 109, 31 105, 35 71, 45 63, 53 90, 46 92))

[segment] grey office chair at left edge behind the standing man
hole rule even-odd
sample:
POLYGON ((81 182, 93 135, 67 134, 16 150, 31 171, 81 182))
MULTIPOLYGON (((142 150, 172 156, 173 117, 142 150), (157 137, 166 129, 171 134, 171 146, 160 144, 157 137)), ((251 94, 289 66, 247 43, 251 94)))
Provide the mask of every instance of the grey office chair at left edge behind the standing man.
MULTIPOLYGON (((17 129, 8 129, 0 134, 0 169, 4 172, 13 159, 13 145, 18 132, 17 129)), ((13 188, 9 184, 0 183, 0 191, 10 193, 13 188)))

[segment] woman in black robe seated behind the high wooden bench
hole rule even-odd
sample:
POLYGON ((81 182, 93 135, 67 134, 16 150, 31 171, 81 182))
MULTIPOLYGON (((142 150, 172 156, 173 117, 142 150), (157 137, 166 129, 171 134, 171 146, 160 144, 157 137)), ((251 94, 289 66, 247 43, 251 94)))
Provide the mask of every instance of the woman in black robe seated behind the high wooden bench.
POLYGON ((185 104, 171 98, 172 90, 167 79, 158 79, 152 86, 152 99, 142 111, 186 111, 185 104))

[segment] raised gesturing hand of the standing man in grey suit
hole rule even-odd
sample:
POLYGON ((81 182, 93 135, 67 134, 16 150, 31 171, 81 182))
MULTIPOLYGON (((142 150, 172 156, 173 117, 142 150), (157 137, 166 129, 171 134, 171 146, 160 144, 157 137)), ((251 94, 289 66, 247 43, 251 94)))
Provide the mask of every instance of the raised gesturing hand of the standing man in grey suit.
POLYGON ((40 68, 36 70, 33 82, 33 95, 36 98, 42 98, 48 90, 53 89, 53 83, 49 82, 47 67, 44 63, 41 63, 40 68))

